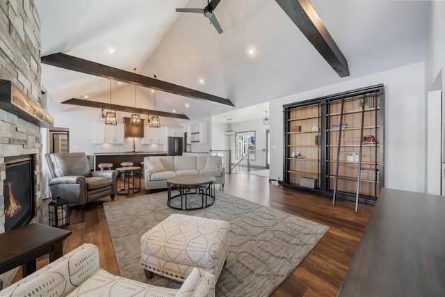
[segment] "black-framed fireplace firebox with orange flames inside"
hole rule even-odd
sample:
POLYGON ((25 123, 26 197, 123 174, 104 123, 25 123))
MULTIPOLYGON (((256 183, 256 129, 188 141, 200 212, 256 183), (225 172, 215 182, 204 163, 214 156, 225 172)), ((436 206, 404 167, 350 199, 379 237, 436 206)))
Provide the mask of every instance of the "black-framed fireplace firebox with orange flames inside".
POLYGON ((33 155, 5 157, 5 231, 22 227, 34 217, 33 163, 33 155))

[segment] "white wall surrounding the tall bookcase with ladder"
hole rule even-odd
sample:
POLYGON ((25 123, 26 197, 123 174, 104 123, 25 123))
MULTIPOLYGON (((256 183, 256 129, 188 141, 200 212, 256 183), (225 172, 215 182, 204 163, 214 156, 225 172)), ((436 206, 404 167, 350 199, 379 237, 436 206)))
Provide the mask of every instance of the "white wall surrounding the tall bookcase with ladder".
POLYGON ((385 186, 425 191, 424 63, 372 74, 270 102, 270 176, 283 178, 283 104, 385 85, 385 186), (274 148, 275 147, 275 148, 274 148))

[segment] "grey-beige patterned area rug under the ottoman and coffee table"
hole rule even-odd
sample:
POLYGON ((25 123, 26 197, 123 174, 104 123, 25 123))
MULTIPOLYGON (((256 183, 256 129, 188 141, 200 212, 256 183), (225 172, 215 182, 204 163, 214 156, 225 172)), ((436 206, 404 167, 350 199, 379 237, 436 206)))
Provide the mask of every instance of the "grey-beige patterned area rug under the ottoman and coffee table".
POLYGON ((223 192, 207 209, 177 211, 167 192, 104 203, 120 275, 162 287, 179 282, 145 278, 140 266, 140 236, 170 214, 180 213, 230 223, 230 251, 216 283, 216 296, 269 296, 286 280, 329 229, 283 211, 223 192))

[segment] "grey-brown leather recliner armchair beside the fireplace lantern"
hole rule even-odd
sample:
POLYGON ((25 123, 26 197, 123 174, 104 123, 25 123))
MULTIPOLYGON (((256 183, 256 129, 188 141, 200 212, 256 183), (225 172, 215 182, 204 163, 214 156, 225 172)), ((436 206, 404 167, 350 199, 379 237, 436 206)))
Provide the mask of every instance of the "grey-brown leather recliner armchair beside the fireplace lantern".
POLYGON ((83 152, 45 154, 49 167, 51 195, 60 195, 70 204, 86 204, 106 196, 114 200, 118 191, 118 171, 91 172, 83 152))

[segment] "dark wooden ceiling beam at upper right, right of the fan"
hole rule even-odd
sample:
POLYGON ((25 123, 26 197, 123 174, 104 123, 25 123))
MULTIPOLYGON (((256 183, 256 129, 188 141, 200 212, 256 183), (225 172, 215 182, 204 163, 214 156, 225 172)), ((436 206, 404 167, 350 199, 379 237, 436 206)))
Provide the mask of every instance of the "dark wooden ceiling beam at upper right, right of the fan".
POLYGON ((275 0, 340 77, 349 76, 348 61, 309 0, 275 0))

